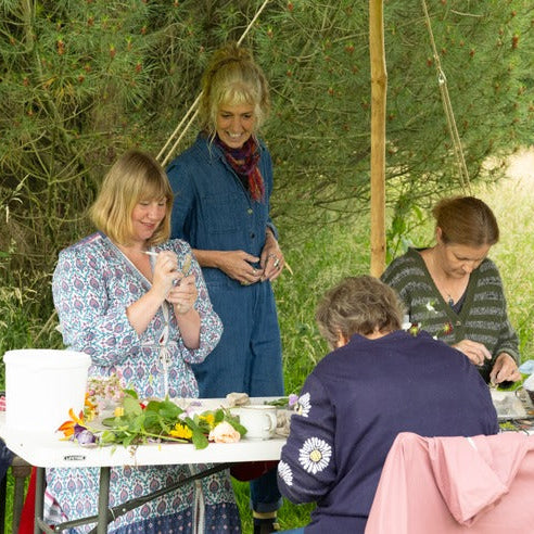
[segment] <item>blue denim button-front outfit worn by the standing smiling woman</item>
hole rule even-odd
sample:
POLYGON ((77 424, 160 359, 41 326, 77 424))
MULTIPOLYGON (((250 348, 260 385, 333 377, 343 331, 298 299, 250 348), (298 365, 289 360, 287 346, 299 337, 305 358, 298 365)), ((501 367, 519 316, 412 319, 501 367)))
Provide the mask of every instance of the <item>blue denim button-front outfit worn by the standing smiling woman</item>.
MULTIPOLYGON (((267 228, 278 238, 269 216, 272 164, 262 142, 259 154, 265 200, 256 202, 223 150, 200 134, 167 168, 176 195, 171 237, 185 239, 192 249, 242 250, 259 257, 267 228)), ((202 272, 224 330, 209 357, 192 366, 200 396, 224 397, 232 392, 283 395, 280 328, 270 281, 241 285, 219 269, 203 267, 202 272)), ((252 481, 251 501, 260 512, 281 506, 276 471, 252 481)))

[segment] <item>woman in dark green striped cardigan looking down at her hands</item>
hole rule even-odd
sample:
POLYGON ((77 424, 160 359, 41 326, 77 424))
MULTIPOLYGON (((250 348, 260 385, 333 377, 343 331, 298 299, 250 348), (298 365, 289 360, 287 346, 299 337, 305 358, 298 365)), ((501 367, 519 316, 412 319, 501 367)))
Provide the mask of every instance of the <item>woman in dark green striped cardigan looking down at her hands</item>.
POLYGON ((518 336, 487 257, 499 239, 495 215, 473 196, 444 199, 432 213, 436 244, 409 249, 382 280, 398 292, 412 325, 461 351, 486 382, 520 380, 518 336))

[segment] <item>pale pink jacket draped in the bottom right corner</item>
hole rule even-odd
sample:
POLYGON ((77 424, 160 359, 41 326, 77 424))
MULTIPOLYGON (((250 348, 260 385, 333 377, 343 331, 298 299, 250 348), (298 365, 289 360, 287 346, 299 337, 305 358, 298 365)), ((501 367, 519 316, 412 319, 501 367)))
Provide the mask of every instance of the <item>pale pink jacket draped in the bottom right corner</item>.
POLYGON ((398 434, 366 534, 534 533, 534 436, 398 434))

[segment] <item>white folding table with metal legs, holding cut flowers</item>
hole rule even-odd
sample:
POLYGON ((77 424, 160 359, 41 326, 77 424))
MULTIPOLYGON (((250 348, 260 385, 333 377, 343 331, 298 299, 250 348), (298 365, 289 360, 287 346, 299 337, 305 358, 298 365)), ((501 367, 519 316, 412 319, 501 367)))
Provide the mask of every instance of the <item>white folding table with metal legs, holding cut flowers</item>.
MULTIPOLYGON (((285 443, 285 437, 275 435, 271 440, 265 441, 242 438, 238 443, 209 443, 204 449, 195 449, 192 444, 183 443, 156 443, 137 445, 135 447, 97 446, 88 448, 74 442, 61 441, 61 433, 54 434, 10 429, 5 424, 5 414, 0 412, 0 437, 3 438, 7 446, 13 453, 37 468, 35 534, 39 534, 41 531, 54 533, 63 530, 61 525, 60 529, 51 530, 42 521, 46 468, 100 468, 98 516, 69 522, 69 524, 71 526, 75 526, 73 523, 85 524, 97 522, 97 526, 92 532, 103 534, 107 532, 107 524, 117 514, 125 513, 129 509, 142 504, 130 501, 113 510, 109 509, 110 472, 112 467, 215 465, 213 468, 193 474, 191 478, 178 483, 181 485, 227 469, 230 463, 278 460, 280 459, 281 448, 285 443)), ((141 499, 150 500, 176 487, 177 485, 169 486, 149 496, 141 497, 141 499)), ((135 500, 137 501, 138 499, 135 500)))

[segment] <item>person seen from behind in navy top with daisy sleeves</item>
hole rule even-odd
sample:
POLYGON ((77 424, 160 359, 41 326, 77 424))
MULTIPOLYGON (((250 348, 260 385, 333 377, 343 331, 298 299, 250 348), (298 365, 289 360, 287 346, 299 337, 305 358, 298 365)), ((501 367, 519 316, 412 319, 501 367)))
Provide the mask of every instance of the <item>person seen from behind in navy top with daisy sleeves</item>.
POLYGON ((466 357, 424 331, 399 330, 398 296, 377 278, 343 280, 316 317, 332 352, 301 391, 279 487, 293 503, 317 503, 306 534, 364 534, 399 432, 495 434, 497 415, 466 357))

